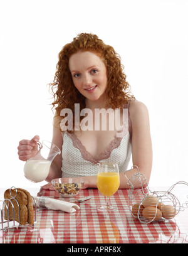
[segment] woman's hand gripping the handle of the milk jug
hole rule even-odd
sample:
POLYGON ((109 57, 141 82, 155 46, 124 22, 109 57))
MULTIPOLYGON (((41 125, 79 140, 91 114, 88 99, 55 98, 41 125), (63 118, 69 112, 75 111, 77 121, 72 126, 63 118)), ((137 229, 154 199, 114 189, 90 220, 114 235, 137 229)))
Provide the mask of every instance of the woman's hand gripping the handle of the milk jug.
POLYGON ((38 152, 39 136, 36 135, 29 141, 28 139, 23 139, 19 141, 18 146, 18 156, 21 161, 26 161, 29 158, 33 157, 38 152))

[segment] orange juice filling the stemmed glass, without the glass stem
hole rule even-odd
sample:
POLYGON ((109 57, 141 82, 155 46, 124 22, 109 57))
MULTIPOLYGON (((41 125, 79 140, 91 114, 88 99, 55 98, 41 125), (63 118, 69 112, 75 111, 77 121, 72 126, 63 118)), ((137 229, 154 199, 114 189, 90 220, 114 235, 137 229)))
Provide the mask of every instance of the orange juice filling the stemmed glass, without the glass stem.
POLYGON ((120 186, 118 173, 98 173, 97 188, 104 196, 112 196, 120 186))

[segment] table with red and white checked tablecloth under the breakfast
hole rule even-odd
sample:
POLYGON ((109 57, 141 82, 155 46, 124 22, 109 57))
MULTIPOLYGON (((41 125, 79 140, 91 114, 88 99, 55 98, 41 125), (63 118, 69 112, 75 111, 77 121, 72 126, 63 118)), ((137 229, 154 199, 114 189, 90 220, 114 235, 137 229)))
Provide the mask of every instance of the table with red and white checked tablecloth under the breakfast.
MULTIPOLYGON (((1 198, 5 190, 0 189, 1 198)), ((36 196, 39 189, 28 191, 36 196)), ((185 196, 184 188, 178 193, 185 196)), ((43 208, 37 211, 34 226, 1 230, 0 243, 188 243, 188 209, 172 220, 145 224, 133 218, 128 209, 128 189, 118 189, 111 197, 113 205, 118 206, 118 211, 111 213, 97 210, 105 203, 98 189, 81 190, 79 196, 88 195, 94 198, 77 203, 80 210, 75 213, 43 208)), ((43 191, 43 196, 59 199, 56 191, 43 191)))

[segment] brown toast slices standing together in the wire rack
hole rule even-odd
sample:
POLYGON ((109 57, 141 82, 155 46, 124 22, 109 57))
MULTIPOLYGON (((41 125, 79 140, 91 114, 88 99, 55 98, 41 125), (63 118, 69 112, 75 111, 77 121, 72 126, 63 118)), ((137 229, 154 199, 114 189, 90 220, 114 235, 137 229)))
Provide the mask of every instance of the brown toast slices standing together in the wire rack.
MULTIPOLYGON (((33 224, 33 203, 31 195, 25 189, 17 188, 17 194, 15 189, 7 189, 4 192, 4 199, 11 199, 11 202, 14 206, 14 216, 13 216, 13 207, 8 200, 5 200, 6 205, 9 207, 9 220, 16 220, 20 225, 26 225, 26 223, 33 224), (10 193, 11 190, 11 193, 10 193), (11 196, 12 194, 12 196, 11 196), (12 198, 15 196, 15 199, 12 198), (11 199, 12 198, 12 199, 11 199), (17 202, 18 203, 17 203, 17 202), (19 207, 18 207, 19 204, 19 207)), ((8 220, 8 211, 6 206, 4 206, 4 219, 8 220)))

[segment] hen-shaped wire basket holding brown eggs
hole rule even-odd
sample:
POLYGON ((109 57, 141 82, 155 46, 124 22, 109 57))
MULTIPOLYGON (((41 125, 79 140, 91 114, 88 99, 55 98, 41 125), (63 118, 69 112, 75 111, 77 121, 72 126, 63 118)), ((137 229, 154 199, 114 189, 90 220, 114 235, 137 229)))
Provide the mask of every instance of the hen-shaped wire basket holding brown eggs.
POLYGON ((188 208, 188 200, 180 205, 179 199, 172 193, 172 189, 177 184, 188 186, 188 183, 179 181, 167 191, 151 191, 145 175, 139 172, 138 166, 133 165, 131 169, 133 168, 137 169, 137 173, 133 174, 130 179, 127 178, 126 171, 124 175, 128 179, 127 184, 130 186, 128 190, 128 208, 134 218, 142 223, 166 221, 174 218, 179 211, 188 208))

